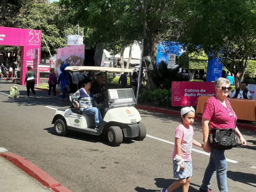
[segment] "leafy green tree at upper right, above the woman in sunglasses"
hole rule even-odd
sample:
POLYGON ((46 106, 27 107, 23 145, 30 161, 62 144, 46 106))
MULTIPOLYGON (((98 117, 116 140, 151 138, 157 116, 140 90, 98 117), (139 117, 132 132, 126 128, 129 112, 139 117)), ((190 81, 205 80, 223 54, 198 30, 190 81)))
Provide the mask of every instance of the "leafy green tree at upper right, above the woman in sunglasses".
POLYGON ((185 33, 179 41, 185 43, 188 50, 200 46, 218 57, 235 75, 238 87, 256 52, 255 1, 189 0, 188 4, 194 19, 184 26, 185 33))

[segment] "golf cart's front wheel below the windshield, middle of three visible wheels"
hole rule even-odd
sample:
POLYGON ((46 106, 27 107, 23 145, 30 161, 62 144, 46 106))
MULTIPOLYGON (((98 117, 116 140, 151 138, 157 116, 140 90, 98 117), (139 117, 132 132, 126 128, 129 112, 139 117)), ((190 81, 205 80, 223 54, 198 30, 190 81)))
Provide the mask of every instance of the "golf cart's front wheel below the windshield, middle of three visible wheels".
POLYGON ((107 132, 108 143, 112 146, 118 146, 123 142, 123 132, 120 127, 108 127, 107 132))

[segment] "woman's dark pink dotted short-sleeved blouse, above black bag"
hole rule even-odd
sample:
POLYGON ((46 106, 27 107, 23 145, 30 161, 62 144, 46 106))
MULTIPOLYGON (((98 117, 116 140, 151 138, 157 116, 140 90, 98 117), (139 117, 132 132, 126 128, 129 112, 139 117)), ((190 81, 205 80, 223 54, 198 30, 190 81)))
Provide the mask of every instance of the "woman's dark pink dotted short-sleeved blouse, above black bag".
POLYGON ((236 114, 231 108, 229 100, 225 100, 227 108, 215 97, 211 97, 204 104, 202 117, 210 120, 209 129, 236 129, 236 114))

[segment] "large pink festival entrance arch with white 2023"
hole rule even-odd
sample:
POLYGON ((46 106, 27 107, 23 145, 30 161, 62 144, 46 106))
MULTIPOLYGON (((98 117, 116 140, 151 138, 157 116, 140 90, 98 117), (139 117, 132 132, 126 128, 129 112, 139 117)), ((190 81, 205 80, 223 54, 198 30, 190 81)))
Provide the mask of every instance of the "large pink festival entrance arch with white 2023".
POLYGON ((20 84, 24 85, 27 66, 29 65, 33 68, 33 50, 38 49, 39 52, 37 54, 40 61, 41 31, 34 29, 0 27, 0 45, 21 47, 20 84))

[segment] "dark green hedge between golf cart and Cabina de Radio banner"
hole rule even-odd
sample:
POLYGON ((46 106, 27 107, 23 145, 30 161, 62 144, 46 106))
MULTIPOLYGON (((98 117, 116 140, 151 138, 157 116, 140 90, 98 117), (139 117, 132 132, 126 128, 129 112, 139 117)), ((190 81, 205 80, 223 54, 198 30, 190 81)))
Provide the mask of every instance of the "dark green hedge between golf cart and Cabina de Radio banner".
POLYGON ((148 88, 144 88, 140 90, 138 100, 144 103, 148 102, 148 103, 154 103, 156 105, 164 106, 167 104, 167 95, 168 95, 167 89, 156 89, 154 91, 151 91, 148 88))

